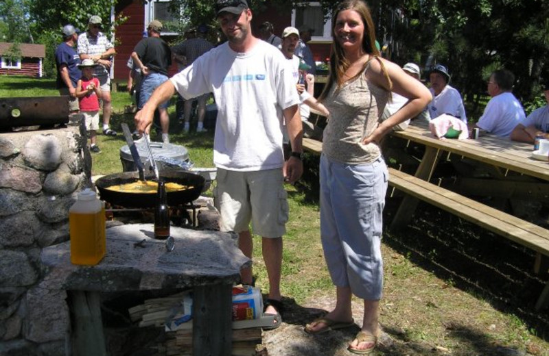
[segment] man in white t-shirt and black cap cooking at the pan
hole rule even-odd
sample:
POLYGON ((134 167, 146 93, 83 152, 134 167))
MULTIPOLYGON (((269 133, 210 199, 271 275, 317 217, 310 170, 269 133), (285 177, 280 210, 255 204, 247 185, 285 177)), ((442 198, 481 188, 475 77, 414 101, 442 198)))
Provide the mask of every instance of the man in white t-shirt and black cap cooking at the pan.
MULTIPOLYGON (((152 123, 156 106, 176 90, 191 99, 213 92, 218 105, 213 162, 218 168, 215 205, 222 231, 238 233, 244 255, 252 257, 248 226, 263 236, 269 279, 265 314, 281 324, 282 238, 288 221, 283 181, 294 183, 303 173, 299 97, 290 66, 281 51, 252 34, 252 12, 246 0, 217 0, 218 23, 227 42, 211 49, 159 86, 135 116, 139 131, 152 123), (288 128, 292 153, 284 161, 282 124, 288 128)), ((252 284, 251 268, 242 283, 252 284)))

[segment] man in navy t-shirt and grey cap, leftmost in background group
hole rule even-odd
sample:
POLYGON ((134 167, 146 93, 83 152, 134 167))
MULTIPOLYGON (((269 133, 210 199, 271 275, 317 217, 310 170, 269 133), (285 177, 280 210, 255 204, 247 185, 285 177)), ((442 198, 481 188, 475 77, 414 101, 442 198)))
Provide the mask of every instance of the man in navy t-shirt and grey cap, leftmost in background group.
POLYGON ((63 27, 63 42, 56 49, 57 81, 56 88, 59 94, 69 96, 69 111, 78 112, 76 99, 76 82, 80 79, 80 56, 73 48, 78 40, 78 34, 73 25, 63 27))

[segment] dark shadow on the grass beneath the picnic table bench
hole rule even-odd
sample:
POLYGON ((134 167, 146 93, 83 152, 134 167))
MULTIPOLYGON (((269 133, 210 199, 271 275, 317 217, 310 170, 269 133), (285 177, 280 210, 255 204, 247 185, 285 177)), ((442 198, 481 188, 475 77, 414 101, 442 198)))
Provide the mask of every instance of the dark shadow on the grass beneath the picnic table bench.
MULTIPOLYGON (((399 201, 387 200, 386 226, 399 201)), ((405 230, 384 233, 384 243, 436 277, 513 314, 549 341, 549 311, 534 309, 549 276, 533 273, 530 249, 423 202, 405 230)))

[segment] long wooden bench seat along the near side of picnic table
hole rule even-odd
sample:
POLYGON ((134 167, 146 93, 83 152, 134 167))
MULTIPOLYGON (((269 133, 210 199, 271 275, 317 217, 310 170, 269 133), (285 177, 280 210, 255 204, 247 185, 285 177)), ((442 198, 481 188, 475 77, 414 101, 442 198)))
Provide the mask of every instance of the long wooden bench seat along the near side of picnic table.
MULTIPOLYGON (((310 153, 320 154, 322 153, 322 142, 303 138, 303 149, 310 153)), ((389 185, 397 190, 536 251, 535 272, 539 272, 541 269, 542 258, 549 256, 548 229, 528 223, 528 221, 516 216, 506 214, 498 209, 436 186, 421 178, 408 175, 395 168, 388 168, 388 170, 389 185)), ((541 292, 535 309, 542 309, 548 303, 549 282, 543 292, 541 292)))

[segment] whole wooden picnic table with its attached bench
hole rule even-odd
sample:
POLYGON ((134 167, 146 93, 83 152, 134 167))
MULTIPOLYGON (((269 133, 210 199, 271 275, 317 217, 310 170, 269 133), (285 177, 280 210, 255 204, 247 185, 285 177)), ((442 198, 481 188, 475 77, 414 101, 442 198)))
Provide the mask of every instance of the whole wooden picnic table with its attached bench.
MULTIPOLYGON (((391 221, 391 229, 408 225, 419 200, 426 201, 532 249, 536 252, 535 272, 546 270, 549 230, 495 209, 478 199, 482 196, 496 196, 499 199, 526 197, 547 203, 549 163, 530 157, 533 145, 491 135, 481 136, 478 140, 440 140, 432 135, 425 121, 412 121, 408 129, 393 131, 384 142, 384 148, 388 147, 390 153, 403 156, 411 145, 419 147, 421 157, 411 160, 414 164, 410 166, 406 166, 405 162, 389 168, 390 186, 406 194, 391 221), (458 167, 457 177, 447 181, 434 179, 441 157, 455 162, 458 167), (463 165, 475 169, 460 170, 459 167, 463 165)), ((303 148, 320 154, 322 142, 304 138, 303 148)), ((388 158, 386 156, 387 161, 388 158)), ((398 159, 396 161, 399 162, 398 159)), ((535 307, 541 309, 548 303, 549 282, 535 307)))

